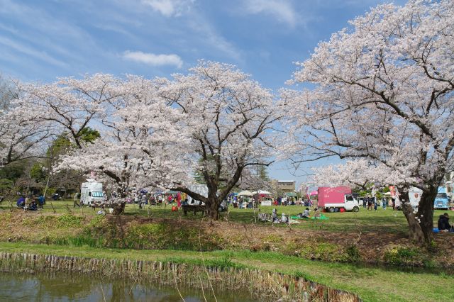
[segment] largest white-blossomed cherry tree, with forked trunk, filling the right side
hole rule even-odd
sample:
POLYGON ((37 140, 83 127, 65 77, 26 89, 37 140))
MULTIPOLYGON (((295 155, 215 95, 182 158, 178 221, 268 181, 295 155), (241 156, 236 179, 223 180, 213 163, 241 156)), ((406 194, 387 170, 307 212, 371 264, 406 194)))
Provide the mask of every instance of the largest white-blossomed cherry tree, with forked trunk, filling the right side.
POLYGON ((453 168, 453 35, 453 1, 377 6, 297 63, 292 83, 314 89, 282 93, 295 161, 362 158, 378 167, 370 178, 394 171, 394 184, 423 190, 421 223, 404 211, 418 242, 431 241, 433 200, 453 168))

